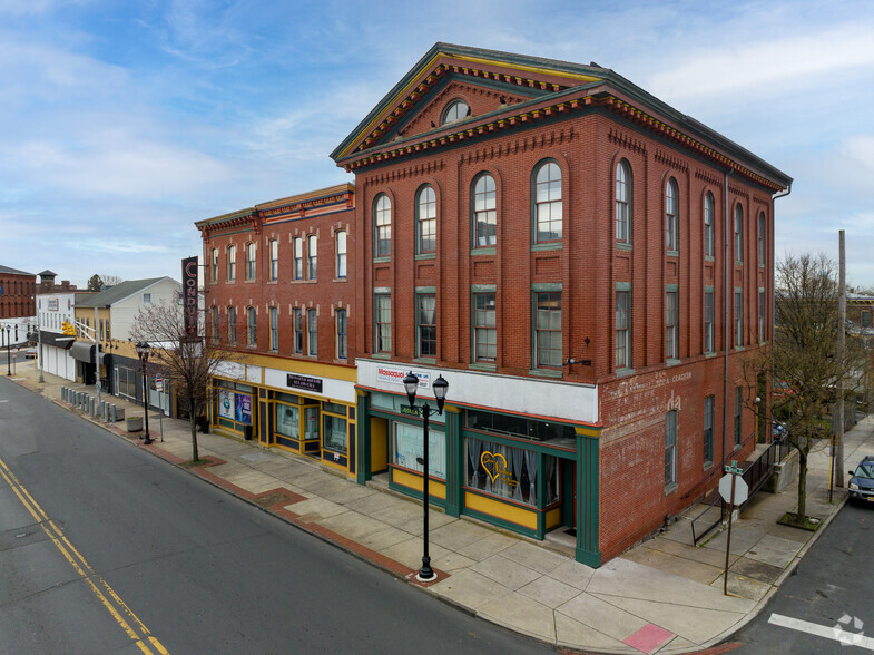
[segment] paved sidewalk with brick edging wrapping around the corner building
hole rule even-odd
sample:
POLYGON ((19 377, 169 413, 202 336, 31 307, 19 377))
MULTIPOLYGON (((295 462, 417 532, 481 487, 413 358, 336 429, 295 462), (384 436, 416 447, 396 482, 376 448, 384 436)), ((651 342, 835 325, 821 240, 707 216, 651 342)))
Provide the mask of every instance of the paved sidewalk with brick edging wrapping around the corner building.
MULTIPOLYGON (((49 374, 40 383, 32 362, 19 364, 12 380, 68 408, 61 402, 62 384, 94 394, 94 388, 49 374)), ((127 416, 137 413, 131 402, 111 401, 127 416)), ((111 427, 89 420, 174 463, 190 460, 187 421, 165 417, 161 442, 158 414, 151 412, 155 443, 143 446, 125 431, 124 421, 111 427)), ((379 481, 362 487, 306 457, 214 433, 197 437, 208 463, 192 468, 194 475, 471 614, 571 651, 687 653, 714 646, 756 616, 815 536, 776 522, 796 507, 795 483, 777 495, 760 491, 733 526, 730 595, 725 596, 726 532, 708 535, 694 547, 688 518, 593 569, 575 561, 561 545, 432 510, 430 554, 438 579, 422 585, 415 581, 422 557, 418 501, 379 481)), ((874 417, 851 430, 844 443, 846 469, 874 454, 874 417)), ((828 521, 845 491, 836 489, 834 502, 827 502, 827 449, 812 453, 809 466, 807 514, 828 521)))

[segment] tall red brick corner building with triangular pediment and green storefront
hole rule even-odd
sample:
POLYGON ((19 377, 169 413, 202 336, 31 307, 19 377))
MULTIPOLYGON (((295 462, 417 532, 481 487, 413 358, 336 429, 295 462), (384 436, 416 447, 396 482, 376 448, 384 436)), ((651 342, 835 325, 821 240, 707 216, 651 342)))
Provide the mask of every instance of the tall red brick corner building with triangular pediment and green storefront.
MULTIPOLYGON (((355 176, 359 481, 421 495, 410 370, 423 399, 438 375, 450 384, 430 436, 435 502, 576 535, 593 566, 752 452, 749 401, 767 395, 740 362, 770 341, 787 175, 612 70, 445 43, 331 156, 355 176)), ((223 221, 204 232, 219 267, 257 223, 223 221)), ((261 286, 228 293, 283 315, 292 297, 327 303, 261 286)))

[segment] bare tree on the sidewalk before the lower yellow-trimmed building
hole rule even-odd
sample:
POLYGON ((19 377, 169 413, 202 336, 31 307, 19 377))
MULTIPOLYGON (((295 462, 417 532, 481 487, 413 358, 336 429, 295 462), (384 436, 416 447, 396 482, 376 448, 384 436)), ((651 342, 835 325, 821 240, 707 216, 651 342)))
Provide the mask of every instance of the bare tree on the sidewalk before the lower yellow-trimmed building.
MULTIPOLYGON (((203 316, 200 325, 203 325, 203 316)), ((131 331, 134 339, 151 346, 149 363, 168 379, 186 402, 192 426, 192 460, 197 461, 197 418, 206 413, 212 400, 209 380, 233 360, 233 351, 220 348, 220 335, 190 338, 186 332, 183 306, 160 302, 140 307, 131 331)), ((202 331, 198 332, 202 334, 202 331)))

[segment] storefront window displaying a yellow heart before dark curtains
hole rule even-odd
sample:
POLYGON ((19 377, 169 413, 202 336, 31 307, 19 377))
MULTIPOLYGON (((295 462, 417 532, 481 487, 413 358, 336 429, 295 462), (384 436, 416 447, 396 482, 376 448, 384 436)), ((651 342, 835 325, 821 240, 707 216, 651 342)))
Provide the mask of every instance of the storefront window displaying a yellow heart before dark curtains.
MULTIPOLYGON (((538 506, 538 453, 480 439, 467 439, 467 486, 508 498, 515 502, 538 506)), ((546 456, 547 502, 557 502, 558 460, 546 456)))

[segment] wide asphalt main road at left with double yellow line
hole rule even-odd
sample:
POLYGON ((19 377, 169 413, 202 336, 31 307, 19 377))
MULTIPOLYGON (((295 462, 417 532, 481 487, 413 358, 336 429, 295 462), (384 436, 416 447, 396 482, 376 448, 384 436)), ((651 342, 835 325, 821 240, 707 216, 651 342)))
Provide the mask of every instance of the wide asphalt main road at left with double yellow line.
POLYGON ((6 377, 0 473, 0 653, 551 652, 6 377))

